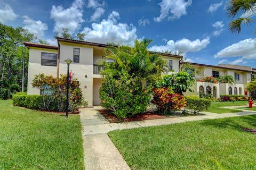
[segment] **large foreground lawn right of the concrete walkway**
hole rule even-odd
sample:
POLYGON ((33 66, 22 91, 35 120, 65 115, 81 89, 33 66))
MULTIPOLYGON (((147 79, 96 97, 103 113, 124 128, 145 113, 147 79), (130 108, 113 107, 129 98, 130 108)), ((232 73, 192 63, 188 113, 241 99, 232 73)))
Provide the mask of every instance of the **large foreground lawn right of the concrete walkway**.
POLYGON ((131 169, 256 169, 256 115, 152 126, 108 135, 131 169), (217 161, 217 163, 215 162, 217 161))

